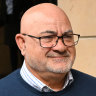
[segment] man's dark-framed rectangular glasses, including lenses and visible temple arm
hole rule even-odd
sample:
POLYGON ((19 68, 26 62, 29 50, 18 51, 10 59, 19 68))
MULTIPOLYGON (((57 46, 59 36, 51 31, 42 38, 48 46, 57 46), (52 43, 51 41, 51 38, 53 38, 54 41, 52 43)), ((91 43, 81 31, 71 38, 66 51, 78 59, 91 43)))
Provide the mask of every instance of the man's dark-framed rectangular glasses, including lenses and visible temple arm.
POLYGON ((68 47, 75 46, 78 44, 79 37, 80 37, 79 34, 66 34, 62 36, 49 35, 49 36, 42 36, 42 37, 35 37, 28 34, 22 34, 22 35, 39 39, 40 46, 43 48, 55 47, 59 39, 62 39, 62 42, 65 46, 68 47))

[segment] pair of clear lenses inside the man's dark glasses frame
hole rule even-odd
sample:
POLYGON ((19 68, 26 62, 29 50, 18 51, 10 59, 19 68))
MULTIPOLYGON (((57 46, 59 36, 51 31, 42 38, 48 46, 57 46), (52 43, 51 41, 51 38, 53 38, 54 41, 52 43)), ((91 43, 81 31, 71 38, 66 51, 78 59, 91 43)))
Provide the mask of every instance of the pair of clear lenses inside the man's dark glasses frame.
MULTIPOLYGON (((63 43, 66 46, 74 46, 78 43, 78 35, 76 34, 69 34, 69 35, 64 35, 63 38, 62 36, 60 37, 63 39, 63 43)), ((58 42, 58 36, 43 36, 40 38, 40 45, 45 48, 50 48, 56 46, 58 42)))

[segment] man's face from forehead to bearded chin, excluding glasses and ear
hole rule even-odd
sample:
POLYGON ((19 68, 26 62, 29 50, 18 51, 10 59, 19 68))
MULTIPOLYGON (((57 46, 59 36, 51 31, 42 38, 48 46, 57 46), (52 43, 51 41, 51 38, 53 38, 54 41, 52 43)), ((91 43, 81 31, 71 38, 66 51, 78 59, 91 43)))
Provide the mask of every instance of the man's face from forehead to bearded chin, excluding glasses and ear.
MULTIPOLYGON (((72 30, 68 20, 56 21, 50 18, 44 22, 34 23, 33 27, 29 29, 28 35, 37 37, 62 36, 65 32, 72 30)), ((75 47, 65 46, 62 39, 59 39, 57 45, 53 48, 43 48, 40 46, 38 39, 26 36, 25 62, 32 70, 53 73, 68 72, 72 67, 74 59, 75 47)))

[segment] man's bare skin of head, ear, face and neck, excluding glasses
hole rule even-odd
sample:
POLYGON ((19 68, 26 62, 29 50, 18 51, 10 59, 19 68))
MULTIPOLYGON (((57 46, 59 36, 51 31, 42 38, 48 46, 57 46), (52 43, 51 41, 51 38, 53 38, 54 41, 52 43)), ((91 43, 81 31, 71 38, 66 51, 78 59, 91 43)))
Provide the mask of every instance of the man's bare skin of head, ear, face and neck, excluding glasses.
MULTIPOLYGON (((54 34, 62 36, 69 30, 72 27, 64 11, 49 3, 30 8, 21 19, 21 33, 37 37, 54 34)), ((75 47, 67 47, 59 39, 55 47, 43 48, 38 39, 22 34, 16 35, 16 42, 28 70, 54 91, 61 90, 75 59, 75 47)))

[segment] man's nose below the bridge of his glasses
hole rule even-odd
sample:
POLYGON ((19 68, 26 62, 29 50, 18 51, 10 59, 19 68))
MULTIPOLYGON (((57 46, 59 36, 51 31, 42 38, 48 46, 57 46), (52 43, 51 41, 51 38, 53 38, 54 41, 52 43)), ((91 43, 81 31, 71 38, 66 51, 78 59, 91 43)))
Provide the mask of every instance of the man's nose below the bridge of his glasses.
POLYGON ((64 45, 62 39, 58 39, 57 45, 52 48, 54 51, 64 52, 67 49, 67 46, 64 45))

